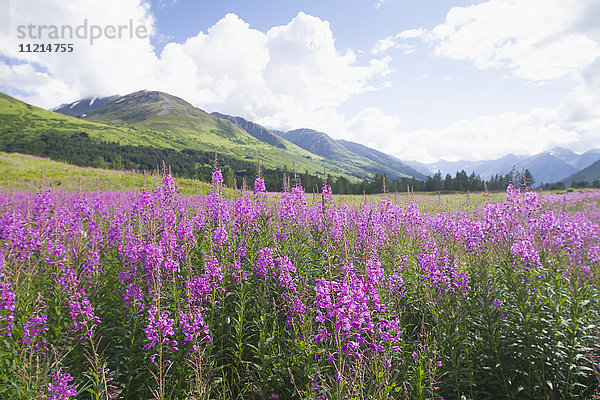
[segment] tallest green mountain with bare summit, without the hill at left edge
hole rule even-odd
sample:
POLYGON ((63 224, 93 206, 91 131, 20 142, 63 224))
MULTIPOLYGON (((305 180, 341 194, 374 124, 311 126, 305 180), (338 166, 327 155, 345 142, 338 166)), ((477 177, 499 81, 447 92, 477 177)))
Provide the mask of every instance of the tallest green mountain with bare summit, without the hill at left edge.
POLYGON ((335 162, 315 155, 284 139, 260 140, 229 120, 210 115, 166 93, 140 91, 108 102, 84 118, 123 128, 135 128, 160 137, 168 147, 218 152, 240 160, 258 161, 267 168, 292 167, 311 174, 323 172, 358 181, 372 176, 361 165, 335 162))

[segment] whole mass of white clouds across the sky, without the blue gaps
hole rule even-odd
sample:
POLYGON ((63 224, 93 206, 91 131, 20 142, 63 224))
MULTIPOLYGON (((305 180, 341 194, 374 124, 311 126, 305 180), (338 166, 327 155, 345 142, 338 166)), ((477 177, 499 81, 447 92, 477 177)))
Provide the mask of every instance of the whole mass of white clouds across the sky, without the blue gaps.
POLYGON ((581 151, 600 146, 597 1, 489 0, 453 8, 432 29, 403 30, 378 41, 370 59, 361 63, 354 51, 336 47, 327 21, 302 12, 267 31, 227 14, 206 32, 170 41, 157 54, 150 39, 159 33, 143 0, 33 4, 11 3, 10 28, 0 32, 0 55, 10 63, 0 61, 0 81, 43 107, 162 90, 208 111, 283 130, 313 128, 420 161, 486 159, 556 145, 581 151), (15 38, 19 24, 76 26, 85 19, 102 26, 131 20, 146 27, 149 37, 99 39, 94 45, 73 39, 71 54, 17 52, 17 44, 27 42, 15 38), (347 100, 387 85, 381 83, 392 71, 387 52, 408 54, 419 42, 439 57, 496 68, 527 82, 567 79, 574 89, 555 109, 482 116, 439 130, 401 132, 397 115, 375 107, 354 116, 340 112, 347 100))

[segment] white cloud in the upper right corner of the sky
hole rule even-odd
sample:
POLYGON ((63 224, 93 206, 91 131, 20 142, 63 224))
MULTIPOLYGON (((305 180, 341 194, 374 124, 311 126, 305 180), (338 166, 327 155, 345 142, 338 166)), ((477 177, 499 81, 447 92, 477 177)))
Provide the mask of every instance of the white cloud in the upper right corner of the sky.
POLYGON ((595 0, 490 0, 455 7, 425 35, 439 56, 471 61, 481 69, 506 68, 513 76, 547 81, 577 78, 600 56, 600 44, 582 30, 595 0))

